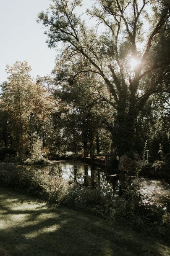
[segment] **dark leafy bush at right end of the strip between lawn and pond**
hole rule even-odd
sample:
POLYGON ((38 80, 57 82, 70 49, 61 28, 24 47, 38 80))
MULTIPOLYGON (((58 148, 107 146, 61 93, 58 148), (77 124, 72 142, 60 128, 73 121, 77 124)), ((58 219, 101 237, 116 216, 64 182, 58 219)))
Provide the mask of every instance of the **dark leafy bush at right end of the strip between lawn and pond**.
POLYGON ((127 187, 123 198, 115 201, 115 217, 134 229, 147 231, 160 237, 170 235, 170 212, 165 205, 153 205, 133 185, 127 187))

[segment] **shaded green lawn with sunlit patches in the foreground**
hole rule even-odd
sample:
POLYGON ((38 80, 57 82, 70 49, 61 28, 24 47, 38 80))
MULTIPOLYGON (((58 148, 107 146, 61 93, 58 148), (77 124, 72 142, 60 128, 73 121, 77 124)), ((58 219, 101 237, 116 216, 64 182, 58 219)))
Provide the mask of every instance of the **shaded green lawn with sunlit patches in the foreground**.
POLYGON ((0 256, 167 256, 170 247, 66 207, 0 188, 0 256))

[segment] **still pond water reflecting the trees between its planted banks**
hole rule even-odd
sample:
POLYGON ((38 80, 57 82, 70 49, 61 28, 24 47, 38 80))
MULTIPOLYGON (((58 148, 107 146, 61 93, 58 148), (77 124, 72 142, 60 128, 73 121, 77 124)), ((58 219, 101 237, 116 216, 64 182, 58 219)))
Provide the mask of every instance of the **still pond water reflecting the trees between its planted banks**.
MULTIPOLYGON (((39 168, 57 172, 69 183, 78 182, 84 186, 93 187, 110 183, 115 196, 118 196, 119 180, 109 169, 90 166, 78 161, 51 161, 50 166, 39 168)), ((151 202, 161 203, 165 198, 170 200, 170 183, 166 181, 132 177, 131 183, 140 186, 141 193, 147 195, 151 202)))

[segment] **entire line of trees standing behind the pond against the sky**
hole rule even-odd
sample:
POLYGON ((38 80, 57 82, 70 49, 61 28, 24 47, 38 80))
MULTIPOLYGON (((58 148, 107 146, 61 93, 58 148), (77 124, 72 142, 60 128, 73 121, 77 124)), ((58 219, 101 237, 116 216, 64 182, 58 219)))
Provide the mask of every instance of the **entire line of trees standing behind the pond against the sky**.
MULTIPOLYGON (((7 67, 0 98, 2 155, 26 159, 72 151, 154 161, 170 148, 170 5, 168 1, 53 0, 39 13, 50 47, 62 47, 52 74, 31 79, 26 62, 7 67), (147 26, 146 26, 147 24, 147 26), (100 26, 100 25, 99 25, 100 26), (145 27, 146 26, 146 27, 145 27), (38 149, 37 149, 38 148, 38 149)), ((2 160, 2 159, 1 159, 2 160)))

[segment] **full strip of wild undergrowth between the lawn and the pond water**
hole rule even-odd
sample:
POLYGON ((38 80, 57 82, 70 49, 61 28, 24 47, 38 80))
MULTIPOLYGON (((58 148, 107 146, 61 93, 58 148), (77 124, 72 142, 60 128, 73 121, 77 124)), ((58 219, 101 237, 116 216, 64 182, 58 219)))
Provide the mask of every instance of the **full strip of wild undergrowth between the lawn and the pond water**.
POLYGON ((127 183, 123 197, 114 197, 107 182, 96 188, 68 182, 60 172, 29 166, 2 166, 0 185, 39 196, 48 202, 86 210, 104 218, 118 218, 135 229, 170 236, 170 203, 151 205, 139 188, 127 183))

